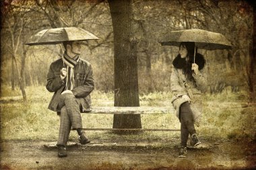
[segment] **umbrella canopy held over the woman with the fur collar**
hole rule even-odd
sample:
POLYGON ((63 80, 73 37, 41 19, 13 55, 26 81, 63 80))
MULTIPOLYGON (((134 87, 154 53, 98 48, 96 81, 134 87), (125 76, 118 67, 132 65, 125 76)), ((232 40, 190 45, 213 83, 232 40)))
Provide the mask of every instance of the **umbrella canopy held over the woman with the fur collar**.
POLYGON ((225 36, 200 29, 172 31, 160 41, 162 46, 180 46, 181 42, 195 42, 197 48, 205 50, 230 49, 225 36))

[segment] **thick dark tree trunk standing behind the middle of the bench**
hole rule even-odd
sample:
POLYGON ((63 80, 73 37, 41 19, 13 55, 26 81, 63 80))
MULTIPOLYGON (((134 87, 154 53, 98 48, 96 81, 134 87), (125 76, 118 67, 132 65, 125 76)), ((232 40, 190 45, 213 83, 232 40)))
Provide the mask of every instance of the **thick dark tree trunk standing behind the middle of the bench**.
MULTIPOLYGON (((131 30, 131 0, 109 0, 115 48, 115 106, 139 106, 137 43, 131 30)), ((141 128, 140 115, 115 115, 113 128, 141 128)))

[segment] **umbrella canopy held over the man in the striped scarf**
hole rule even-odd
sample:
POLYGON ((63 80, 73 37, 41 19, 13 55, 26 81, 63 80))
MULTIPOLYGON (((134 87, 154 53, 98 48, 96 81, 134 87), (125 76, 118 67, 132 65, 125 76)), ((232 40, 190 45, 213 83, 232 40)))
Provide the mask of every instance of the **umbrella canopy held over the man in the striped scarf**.
POLYGON ((98 40, 91 32, 88 32, 82 28, 52 28, 48 30, 42 30, 34 34, 28 45, 41 45, 41 44, 59 44, 64 41, 75 40, 98 40))

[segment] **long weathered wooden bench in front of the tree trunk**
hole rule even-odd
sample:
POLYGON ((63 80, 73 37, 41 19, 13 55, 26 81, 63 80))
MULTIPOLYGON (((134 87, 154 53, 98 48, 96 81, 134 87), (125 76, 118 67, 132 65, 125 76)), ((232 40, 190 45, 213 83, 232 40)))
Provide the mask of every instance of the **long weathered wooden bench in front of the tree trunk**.
MULTIPOLYGON (((172 107, 96 107, 83 114, 173 114, 172 107)), ((142 128, 83 128, 84 130, 130 130, 130 131, 181 131, 180 129, 142 129, 142 128)))

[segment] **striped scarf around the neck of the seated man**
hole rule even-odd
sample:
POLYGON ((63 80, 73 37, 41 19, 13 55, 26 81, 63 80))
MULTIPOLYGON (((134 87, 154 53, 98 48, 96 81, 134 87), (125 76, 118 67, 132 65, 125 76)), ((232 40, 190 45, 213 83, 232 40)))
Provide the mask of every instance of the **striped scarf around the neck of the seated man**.
POLYGON ((65 90, 72 90, 75 85, 74 71, 73 68, 77 65, 79 56, 70 58, 66 53, 63 54, 63 62, 67 65, 67 79, 65 90))

